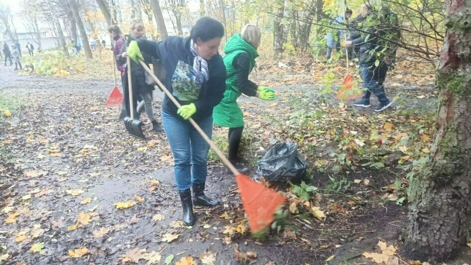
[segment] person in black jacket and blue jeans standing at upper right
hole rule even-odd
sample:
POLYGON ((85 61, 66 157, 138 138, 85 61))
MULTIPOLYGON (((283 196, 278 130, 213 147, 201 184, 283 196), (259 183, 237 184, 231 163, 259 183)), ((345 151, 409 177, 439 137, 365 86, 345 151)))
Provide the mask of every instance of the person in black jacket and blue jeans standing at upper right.
POLYGON ((373 93, 379 101, 375 112, 383 111, 391 106, 392 102, 386 97, 383 82, 386 78, 387 64, 384 47, 387 47, 385 32, 381 30, 382 21, 376 11, 373 11, 371 3, 366 2, 361 6, 361 15, 365 17, 360 37, 348 40, 345 45, 351 46, 360 44, 359 67, 361 79, 363 80, 363 97, 353 103, 356 107, 371 107, 369 98, 373 93))

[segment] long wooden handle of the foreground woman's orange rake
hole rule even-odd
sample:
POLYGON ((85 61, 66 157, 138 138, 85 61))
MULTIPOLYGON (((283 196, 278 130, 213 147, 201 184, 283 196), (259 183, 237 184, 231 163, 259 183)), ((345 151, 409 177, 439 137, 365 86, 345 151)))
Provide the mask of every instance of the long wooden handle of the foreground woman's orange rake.
MULTIPOLYGON (((154 73, 149 69, 149 67, 147 67, 147 65, 144 62, 142 62, 141 60, 139 60, 139 63, 142 65, 142 67, 145 69, 145 71, 154 79, 154 81, 157 83, 157 85, 159 85, 159 87, 163 90, 165 95, 167 95, 167 97, 177 106, 177 108, 180 109, 182 107, 182 105, 180 105, 180 103, 178 103, 178 101, 175 99, 175 97, 172 95, 172 93, 170 93, 170 91, 168 91, 168 89, 162 84, 162 82, 160 82, 160 80, 154 75, 154 73)), ((231 172, 235 176, 237 176, 239 174, 239 172, 237 171, 236 167, 231 163, 231 161, 229 161, 229 159, 223 154, 223 152, 221 152, 221 150, 219 150, 218 146, 208 137, 208 135, 206 135, 205 132, 203 132, 203 130, 201 130, 200 126, 195 122, 195 120, 193 120, 192 118, 190 118, 188 120, 190 121, 191 125, 193 125, 193 127, 195 127, 196 131, 198 131, 198 133, 201 134, 203 139, 205 139, 205 141, 211 146, 211 148, 213 148, 213 150, 216 152, 216 154, 219 156, 219 158, 221 158, 223 160, 224 164, 231 170, 231 172)))

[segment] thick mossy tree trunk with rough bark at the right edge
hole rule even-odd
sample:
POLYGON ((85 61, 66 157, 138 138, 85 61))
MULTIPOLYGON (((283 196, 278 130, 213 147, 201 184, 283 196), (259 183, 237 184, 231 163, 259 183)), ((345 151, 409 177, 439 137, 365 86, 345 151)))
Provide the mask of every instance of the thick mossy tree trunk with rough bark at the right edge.
POLYGON ((471 216, 471 1, 449 0, 436 84, 440 107, 429 163, 411 184, 404 247, 413 260, 446 261, 466 243, 471 216))

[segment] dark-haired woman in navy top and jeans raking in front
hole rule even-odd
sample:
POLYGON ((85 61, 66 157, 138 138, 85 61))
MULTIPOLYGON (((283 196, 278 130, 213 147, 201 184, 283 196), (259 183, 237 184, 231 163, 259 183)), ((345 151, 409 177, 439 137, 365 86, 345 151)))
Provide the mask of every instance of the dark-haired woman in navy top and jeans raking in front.
POLYGON ((179 109, 165 95, 162 122, 174 157, 175 184, 182 202, 182 221, 196 222, 193 204, 213 207, 220 204, 205 193, 209 144, 188 121, 192 118, 211 138, 213 108, 226 90, 226 67, 218 53, 224 26, 202 17, 189 37, 168 36, 163 41, 139 39, 129 45, 129 56, 140 58, 140 50, 160 59, 166 70, 165 87, 182 105, 179 109), (191 190, 193 194, 191 193, 191 190))

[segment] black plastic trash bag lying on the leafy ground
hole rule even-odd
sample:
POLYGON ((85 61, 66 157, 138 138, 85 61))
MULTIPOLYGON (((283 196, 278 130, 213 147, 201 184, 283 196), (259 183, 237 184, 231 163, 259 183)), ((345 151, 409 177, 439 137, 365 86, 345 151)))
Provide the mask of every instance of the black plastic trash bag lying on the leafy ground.
POLYGON ((255 174, 270 182, 300 182, 306 177, 307 164, 298 153, 298 145, 290 141, 271 147, 257 164, 255 174))

